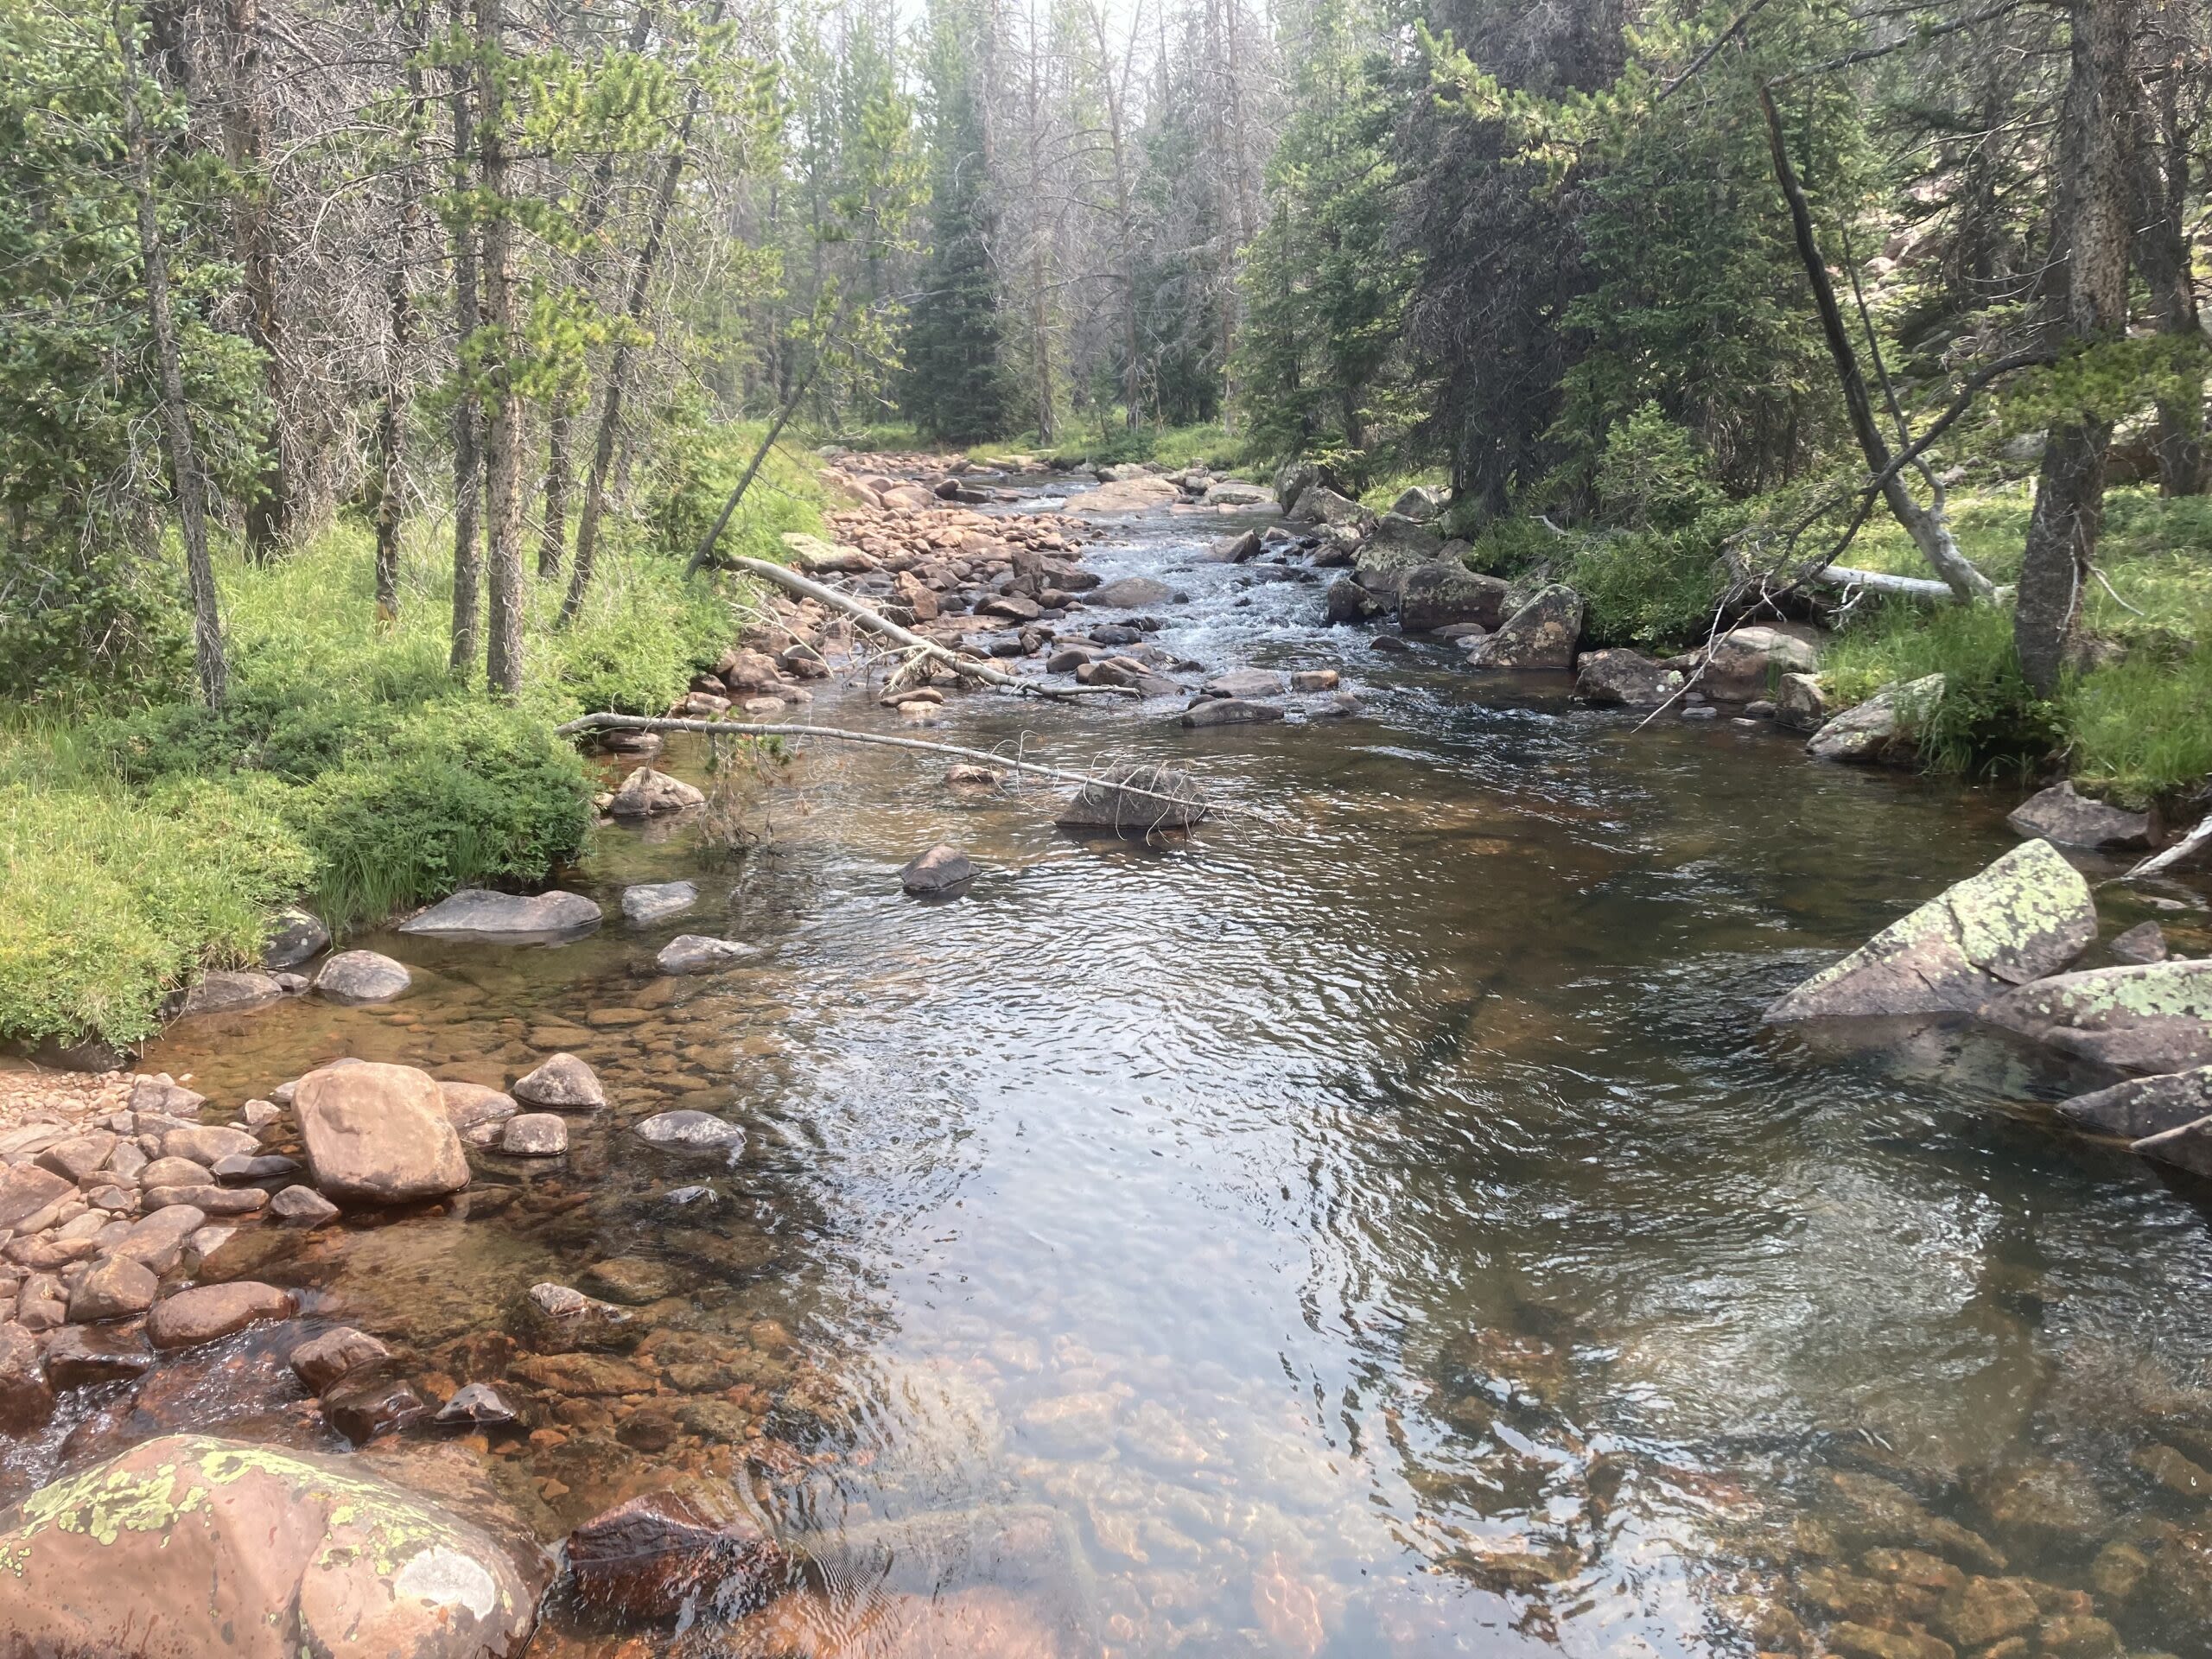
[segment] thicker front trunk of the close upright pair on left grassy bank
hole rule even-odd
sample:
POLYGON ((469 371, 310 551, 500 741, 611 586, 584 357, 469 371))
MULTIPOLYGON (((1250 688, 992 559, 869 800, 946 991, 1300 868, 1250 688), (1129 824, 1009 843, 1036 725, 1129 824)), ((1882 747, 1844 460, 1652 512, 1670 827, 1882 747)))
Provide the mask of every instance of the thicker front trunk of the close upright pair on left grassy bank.
POLYGON ((489 626, 484 684, 498 697, 522 690, 522 394, 515 387, 515 221, 509 210, 507 111, 498 58, 507 35, 504 0, 476 0, 478 177, 484 186, 484 325, 491 330, 484 420, 484 566, 489 626))

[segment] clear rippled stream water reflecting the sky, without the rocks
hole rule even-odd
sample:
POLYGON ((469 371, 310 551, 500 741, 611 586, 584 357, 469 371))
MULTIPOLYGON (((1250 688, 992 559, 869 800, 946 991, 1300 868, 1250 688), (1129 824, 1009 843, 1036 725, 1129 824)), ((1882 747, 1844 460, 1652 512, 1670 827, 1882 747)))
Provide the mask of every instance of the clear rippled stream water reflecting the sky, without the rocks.
MULTIPOLYGON (((1730 1597, 1816 1617, 1805 1564, 1867 1542, 1798 1524, 1832 1471, 2062 1588, 2112 1528, 2194 1526, 2130 1458, 2212 1431, 2205 1212, 2051 1128, 2084 1079, 2008 1040, 1759 1026, 2008 847, 2011 801, 1371 650, 1316 626, 1314 582, 1190 564, 1219 531, 1155 518, 1088 562, 1188 588, 1177 655, 1340 666, 1360 717, 969 697, 920 734, 1175 759, 1230 816, 1077 841, 1051 790, 816 745, 712 823, 604 832, 566 883, 608 909, 588 940, 361 940, 409 998, 188 1022, 146 1068, 234 1104, 343 1053, 504 1084, 571 1048, 615 1110, 560 1168, 480 1159, 451 1214, 234 1270, 449 1387, 498 1369, 480 1334, 529 1283, 657 1263, 659 1394, 568 1400, 495 1469, 549 1537, 710 1480, 816 1568, 641 1652, 1739 1652, 1730 1597), (936 841, 973 891, 902 898, 936 841), (622 885, 675 876, 697 911, 622 922, 622 885), (659 980, 679 931, 763 949, 659 980), (668 1106, 741 1121, 743 1155, 624 1130, 668 1106), (2002 1535, 1978 1502, 2051 1460, 2106 1533, 2002 1535)), ((812 717, 902 730, 865 692, 812 717)), ((708 779, 699 745, 666 765, 708 779)), ((2108 933, 2212 947, 2185 889, 2106 898, 2108 933)), ((2203 1650, 2148 1593, 2095 1613, 2203 1650)), ((553 1610, 555 1652, 602 1635, 553 1610)))

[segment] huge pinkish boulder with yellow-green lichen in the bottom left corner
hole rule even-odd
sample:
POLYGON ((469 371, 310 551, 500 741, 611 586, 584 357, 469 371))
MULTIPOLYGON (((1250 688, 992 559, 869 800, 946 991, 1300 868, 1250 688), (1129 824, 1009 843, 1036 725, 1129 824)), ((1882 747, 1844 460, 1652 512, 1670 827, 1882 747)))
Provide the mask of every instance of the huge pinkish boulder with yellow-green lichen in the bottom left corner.
POLYGON ((0 1650, 24 1659, 500 1659, 529 1641, 546 1579, 542 1557, 361 1458, 212 1436, 42 1486, 0 1515, 0 1650))

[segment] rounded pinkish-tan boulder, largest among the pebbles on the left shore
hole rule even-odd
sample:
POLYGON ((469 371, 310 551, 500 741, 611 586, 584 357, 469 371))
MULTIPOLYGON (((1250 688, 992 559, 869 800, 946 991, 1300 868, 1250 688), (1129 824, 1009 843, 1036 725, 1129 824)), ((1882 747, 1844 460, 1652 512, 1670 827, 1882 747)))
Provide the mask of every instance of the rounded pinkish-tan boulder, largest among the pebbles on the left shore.
POLYGON ((469 1186, 469 1157, 427 1071, 310 1071, 292 1095, 292 1115, 314 1186, 338 1203, 414 1203, 469 1186))

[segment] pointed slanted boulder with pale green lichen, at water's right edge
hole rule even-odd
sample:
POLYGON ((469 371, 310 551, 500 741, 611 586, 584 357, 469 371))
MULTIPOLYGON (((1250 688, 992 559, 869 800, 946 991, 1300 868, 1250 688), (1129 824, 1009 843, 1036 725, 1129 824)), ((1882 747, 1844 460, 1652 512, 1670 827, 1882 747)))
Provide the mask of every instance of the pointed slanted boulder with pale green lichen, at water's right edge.
POLYGON ((1971 1013, 2057 973, 2095 938, 2097 905, 2081 872, 2048 841, 2028 841, 1814 973, 1765 1018, 1971 1013))

